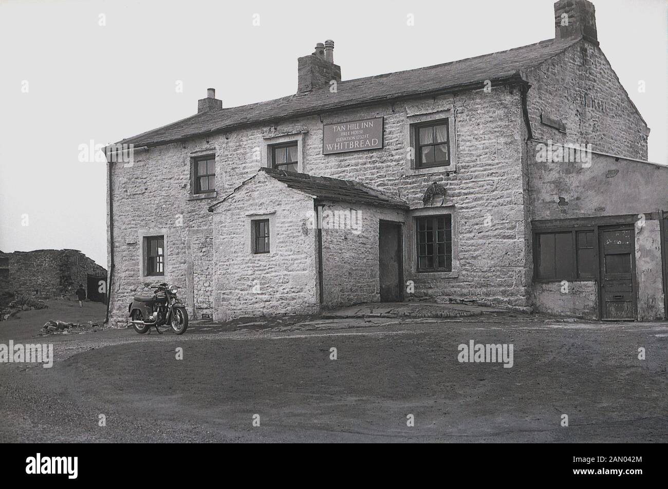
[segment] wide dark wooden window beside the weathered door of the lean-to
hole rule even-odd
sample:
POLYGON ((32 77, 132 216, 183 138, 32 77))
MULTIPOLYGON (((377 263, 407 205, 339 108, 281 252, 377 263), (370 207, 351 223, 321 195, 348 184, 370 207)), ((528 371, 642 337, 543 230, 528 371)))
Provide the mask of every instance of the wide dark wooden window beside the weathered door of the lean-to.
POLYGON ((595 282, 599 281, 599 236, 598 236, 598 226, 566 226, 558 228, 540 228, 534 229, 532 232, 532 248, 533 248, 533 281, 536 283, 558 283, 561 281, 570 281, 570 282, 595 282), (593 275, 591 277, 578 277, 579 272, 579 257, 578 251, 578 232, 591 232, 592 233, 592 246, 582 249, 593 249, 593 275), (540 238, 541 234, 570 234, 570 244, 571 244, 571 263, 570 273, 567 277, 560 278, 544 278, 539 277, 539 262, 540 262, 540 238))

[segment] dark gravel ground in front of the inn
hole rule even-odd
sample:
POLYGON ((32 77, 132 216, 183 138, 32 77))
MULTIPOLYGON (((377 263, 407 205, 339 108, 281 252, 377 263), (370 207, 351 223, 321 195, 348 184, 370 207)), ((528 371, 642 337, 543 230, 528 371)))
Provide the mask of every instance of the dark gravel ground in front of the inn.
POLYGON ((0 363, 1 442, 668 441, 666 323, 312 319, 38 340, 37 313, 0 323, 0 343, 55 352, 50 369, 0 363), (512 343, 513 367, 460 363, 470 340, 512 343))

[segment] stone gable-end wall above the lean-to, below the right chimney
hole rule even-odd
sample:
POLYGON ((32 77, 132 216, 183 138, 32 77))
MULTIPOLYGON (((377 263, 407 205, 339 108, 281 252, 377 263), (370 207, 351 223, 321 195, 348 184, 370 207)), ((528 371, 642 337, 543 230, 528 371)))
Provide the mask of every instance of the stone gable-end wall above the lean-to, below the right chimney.
MULTIPOLYGON (((534 138, 647 160, 649 129, 601 49, 580 41, 524 73, 534 138), (564 124, 565 132, 541 122, 564 124)), ((633 87, 635 89, 635 87, 633 87)))

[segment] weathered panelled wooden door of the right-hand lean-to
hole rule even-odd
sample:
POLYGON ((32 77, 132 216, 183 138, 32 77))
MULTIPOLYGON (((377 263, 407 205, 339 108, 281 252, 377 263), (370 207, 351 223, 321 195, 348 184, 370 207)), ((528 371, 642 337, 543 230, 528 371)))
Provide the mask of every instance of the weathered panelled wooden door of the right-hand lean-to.
POLYGON ((601 319, 637 318, 633 225, 599 228, 601 319))

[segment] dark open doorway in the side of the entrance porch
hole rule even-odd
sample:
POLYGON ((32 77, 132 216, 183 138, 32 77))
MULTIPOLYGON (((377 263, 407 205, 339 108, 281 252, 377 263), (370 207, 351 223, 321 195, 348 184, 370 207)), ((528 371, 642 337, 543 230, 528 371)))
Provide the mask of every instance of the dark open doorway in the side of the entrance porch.
POLYGON ((403 232, 401 223, 381 220, 378 230, 381 302, 403 301, 403 232))

